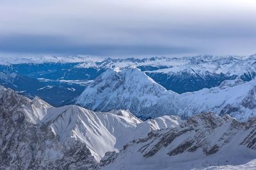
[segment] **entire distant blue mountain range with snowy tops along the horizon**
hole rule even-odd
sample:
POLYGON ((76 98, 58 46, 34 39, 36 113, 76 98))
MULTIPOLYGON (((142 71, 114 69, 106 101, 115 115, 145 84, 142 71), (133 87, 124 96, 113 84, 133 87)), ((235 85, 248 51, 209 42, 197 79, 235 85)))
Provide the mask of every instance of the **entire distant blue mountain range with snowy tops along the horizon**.
MULTIPOLYGON (((100 74, 115 68, 137 67, 164 89, 184 94, 218 87, 225 80, 253 80, 256 75, 255 59, 256 55, 145 59, 6 57, 1 60, 0 84, 27 97, 39 96, 53 106, 63 106, 72 103, 100 74)), ((173 111, 177 112, 169 109, 166 113, 173 111)))

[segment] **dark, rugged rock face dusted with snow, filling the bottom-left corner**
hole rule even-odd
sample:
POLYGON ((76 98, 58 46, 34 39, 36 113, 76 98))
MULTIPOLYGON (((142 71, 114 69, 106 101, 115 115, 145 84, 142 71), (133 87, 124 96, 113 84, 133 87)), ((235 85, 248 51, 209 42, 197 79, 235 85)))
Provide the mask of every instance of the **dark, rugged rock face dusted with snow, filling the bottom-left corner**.
POLYGON ((44 107, 50 105, 31 101, 10 89, 1 92, 0 168, 92 168, 96 161, 86 145, 75 140, 61 143, 47 124, 38 124, 44 107))

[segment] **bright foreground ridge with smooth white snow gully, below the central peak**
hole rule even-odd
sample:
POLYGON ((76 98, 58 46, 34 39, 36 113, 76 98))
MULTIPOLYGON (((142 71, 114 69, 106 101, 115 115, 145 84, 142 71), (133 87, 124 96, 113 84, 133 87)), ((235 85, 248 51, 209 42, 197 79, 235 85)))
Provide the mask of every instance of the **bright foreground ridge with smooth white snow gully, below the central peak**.
POLYGON ((42 124, 49 124, 51 131, 63 143, 72 138, 81 141, 95 160, 100 161, 106 152, 117 152, 129 141, 138 139, 150 131, 172 127, 182 122, 180 119, 177 121, 173 121, 172 117, 161 117, 142 122, 128 111, 102 113, 70 105, 48 109, 42 124), (161 126, 162 124, 165 126, 161 126))

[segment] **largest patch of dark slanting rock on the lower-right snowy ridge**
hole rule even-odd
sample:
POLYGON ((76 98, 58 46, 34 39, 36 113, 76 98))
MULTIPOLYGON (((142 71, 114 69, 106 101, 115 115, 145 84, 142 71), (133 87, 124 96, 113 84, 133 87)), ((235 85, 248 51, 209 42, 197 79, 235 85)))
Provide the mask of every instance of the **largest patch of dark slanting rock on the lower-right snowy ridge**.
MULTIPOLYGON (((211 155, 218 152, 225 143, 228 143, 232 135, 236 134, 238 129, 242 128, 242 124, 243 123, 236 122, 236 120, 232 120, 232 118, 228 118, 226 122, 223 118, 214 115, 214 113, 205 113, 189 118, 185 127, 171 130, 165 129, 163 132, 159 132, 157 134, 157 138, 159 138, 157 143, 155 140, 156 137, 154 137, 154 146, 144 145, 141 147, 140 152, 143 153, 144 157, 152 157, 162 148, 171 145, 175 139, 182 138, 181 136, 185 136, 186 134, 193 134, 193 136, 188 136, 188 138, 180 140, 180 143, 170 148, 167 154, 174 156, 180 153, 195 152, 198 149, 202 149, 205 155, 211 155), (225 129, 225 133, 219 134, 219 138, 214 138, 213 140, 216 141, 216 143, 212 143, 212 140, 209 139, 211 133, 227 124, 230 124, 230 128, 225 129)), ((138 142, 140 143, 140 141, 138 142)))

